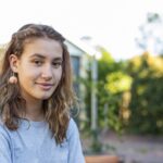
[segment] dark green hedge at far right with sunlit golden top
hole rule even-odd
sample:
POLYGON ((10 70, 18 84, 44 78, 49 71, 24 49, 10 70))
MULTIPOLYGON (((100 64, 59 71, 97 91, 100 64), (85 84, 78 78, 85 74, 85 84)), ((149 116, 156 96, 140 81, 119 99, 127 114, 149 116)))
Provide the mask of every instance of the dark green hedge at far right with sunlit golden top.
POLYGON ((128 67, 128 72, 134 77, 129 104, 131 111, 129 129, 141 134, 163 134, 163 64, 156 65, 163 63, 163 59, 145 53, 139 58, 139 62, 137 68, 134 60, 128 67))

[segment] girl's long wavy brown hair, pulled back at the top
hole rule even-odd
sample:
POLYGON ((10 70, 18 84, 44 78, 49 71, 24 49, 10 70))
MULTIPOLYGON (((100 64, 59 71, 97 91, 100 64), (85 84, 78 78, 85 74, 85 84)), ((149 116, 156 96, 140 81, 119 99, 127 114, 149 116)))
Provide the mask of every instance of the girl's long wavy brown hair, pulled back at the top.
POLYGON ((64 138, 66 138, 70 110, 76 98, 73 91, 71 60, 67 47, 64 43, 65 39, 51 26, 27 24, 12 35, 11 41, 4 52, 0 74, 0 115, 9 129, 16 130, 18 128, 18 113, 25 108, 26 101, 21 96, 18 84, 11 85, 8 82, 12 75, 9 57, 11 54, 16 54, 17 58, 21 58, 25 43, 36 38, 50 38, 57 40, 61 43, 63 49, 63 71, 60 84, 51 98, 43 100, 42 105, 45 118, 49 124, 52 136, 55 138, 57 143, 62 143, 64 138))

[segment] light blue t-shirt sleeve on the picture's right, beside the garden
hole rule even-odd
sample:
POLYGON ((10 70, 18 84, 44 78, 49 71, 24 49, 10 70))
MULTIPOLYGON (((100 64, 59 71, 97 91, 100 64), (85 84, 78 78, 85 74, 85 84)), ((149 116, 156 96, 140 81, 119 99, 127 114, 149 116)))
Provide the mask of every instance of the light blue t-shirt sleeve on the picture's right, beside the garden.
POLYGON ((78 128, 73 118, 67 129, 68 163, 85 163, 78 128))

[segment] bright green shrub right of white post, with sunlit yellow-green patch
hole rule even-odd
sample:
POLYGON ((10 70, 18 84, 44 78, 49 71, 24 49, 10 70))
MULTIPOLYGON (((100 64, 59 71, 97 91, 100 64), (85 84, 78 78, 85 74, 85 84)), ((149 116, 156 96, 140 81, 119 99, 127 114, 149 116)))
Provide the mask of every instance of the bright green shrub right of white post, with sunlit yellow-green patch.
POLYGON ((102 128, 112 128, 121 133, 121 103, 123 91, 130 88, 131 78, 125 73, 127 62, 115 62, 111 54, 102 49, 98 61, 98 124, 102 128))

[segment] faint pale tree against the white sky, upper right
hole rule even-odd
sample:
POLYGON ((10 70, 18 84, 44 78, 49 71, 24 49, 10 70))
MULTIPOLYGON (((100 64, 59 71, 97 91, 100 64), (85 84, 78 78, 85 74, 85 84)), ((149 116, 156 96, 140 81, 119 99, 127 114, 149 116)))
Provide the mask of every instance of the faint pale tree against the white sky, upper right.
POLYGON ((137 46, 142 51, 163 54, 163 21, 158 13, 148 13, 147 21, 139 27, 140 36, 136 38, 137 46))

